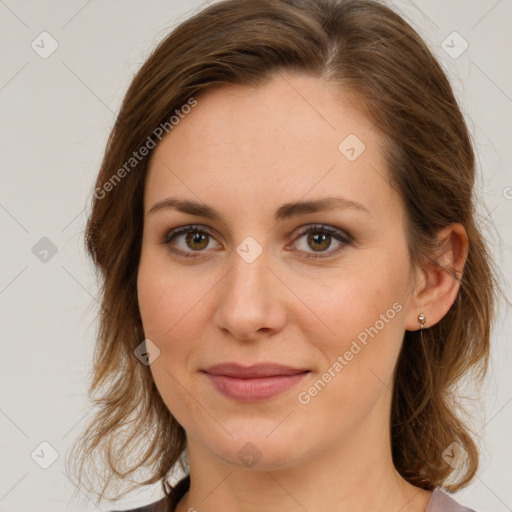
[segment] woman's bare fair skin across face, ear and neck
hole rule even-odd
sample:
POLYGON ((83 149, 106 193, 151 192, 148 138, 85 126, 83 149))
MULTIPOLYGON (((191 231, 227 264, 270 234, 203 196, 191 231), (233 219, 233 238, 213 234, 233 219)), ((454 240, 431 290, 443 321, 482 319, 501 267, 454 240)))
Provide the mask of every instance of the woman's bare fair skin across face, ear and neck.
MULTIPOLYGON (((187 433, 191 488, 178 512, 424 511, 431 492, 407 483, 392 464, 393 371, 404 332, 419 328, 420 312, 427 328, 438 322, 458 281, 435 265, 411 267, 381 134, 348 95, 303 75, 196 98, 150 162, 138 273, 145 335, 160 350, 152 375, 187 433), (354 161, 338 150, 348 134, 366 146, 354 161), (334 195, 367 211, 338 207, 274 219, 285 203, 334 195), (149 212, 170 196, 205 203, 222 221, 172 208, 149 212), (182 234, 161 243, 169 231, 198 224, 209 234, 204 240, 187 244, 182 234), (327 234, 316 250, 301 233, 318 224, 353 242, 327 234), (262 249, 251 263, 236 251, 249 236, 262 249), (298 394, 393 304, 400 311, 300 403, 298 394), (230 361, 310 373, 275 398, 239 403, 200 372, 230 361), (247 443, 261 453, 252 467, 237 456, 247 443)), ((447 241, 443 262, 461 271, 464 229, 455 224, 439 236, 447 241)))

